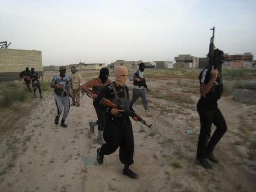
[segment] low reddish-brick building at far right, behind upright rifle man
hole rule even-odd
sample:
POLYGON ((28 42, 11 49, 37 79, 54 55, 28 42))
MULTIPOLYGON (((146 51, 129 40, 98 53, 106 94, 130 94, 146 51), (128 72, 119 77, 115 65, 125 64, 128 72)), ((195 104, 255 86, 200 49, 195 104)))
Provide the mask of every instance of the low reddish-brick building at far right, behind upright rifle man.
POLYGON ((223 67, 224 68, 252 68, 253 55, 251 53, 244 53, 243 55, 225 54, 223 67))

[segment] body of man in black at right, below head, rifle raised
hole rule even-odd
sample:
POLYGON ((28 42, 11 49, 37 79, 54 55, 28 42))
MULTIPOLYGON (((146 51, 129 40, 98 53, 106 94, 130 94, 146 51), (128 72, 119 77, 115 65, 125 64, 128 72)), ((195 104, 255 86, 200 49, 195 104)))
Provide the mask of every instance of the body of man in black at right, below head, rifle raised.
POLYGON ((213 149, 227 130, 224 116, 217 105, 217 100, 222 94, 222 82, 218 77, 217 66, 212 66, 210 71, 209 68, 205 68, 200 73, 199 80, 201 98, 197 103, 197 111, 200 116, 201 128, 196 162, 206 169, 212 169, 213 166, 207 159, 218 164, 218 159, 213 155, 213 149), (212 123, 216 126, 216 130, 210 137, 212 123))

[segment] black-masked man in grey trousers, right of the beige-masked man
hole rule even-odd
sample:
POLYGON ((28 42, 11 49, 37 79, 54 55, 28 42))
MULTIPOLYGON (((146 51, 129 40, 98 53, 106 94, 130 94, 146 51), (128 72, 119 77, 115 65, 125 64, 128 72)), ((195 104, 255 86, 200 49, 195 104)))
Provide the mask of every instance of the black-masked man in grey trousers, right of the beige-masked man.
MULTIPOLYGON (((146 116, 152 116, 150 112, 148 112, 148 107, 147 107, 147 97, 146 97, 146 90, 147 89, 147 84, 146 80, 144 77, 144 69, 145 69, 145 64, 141 62, 139 64, 139 70, 137 70, 135 73, 133 73, 129 81, 133 81, 133 100, 131 101, 131 106, 137 101, 139 97, 142 98, 144 110, 145 110, 145 115, 146 116)), ((147 89, 148 91, 148 89, 147 89)))

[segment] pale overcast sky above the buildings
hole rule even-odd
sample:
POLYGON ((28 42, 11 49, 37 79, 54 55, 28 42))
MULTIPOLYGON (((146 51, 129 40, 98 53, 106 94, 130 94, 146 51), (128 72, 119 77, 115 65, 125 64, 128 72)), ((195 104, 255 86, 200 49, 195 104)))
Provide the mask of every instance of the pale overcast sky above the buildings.
POLYGON ((216 48, 256 56, 256 1, 0 0, 0 41, 42 51, 43 65, 204 57, 216 48))

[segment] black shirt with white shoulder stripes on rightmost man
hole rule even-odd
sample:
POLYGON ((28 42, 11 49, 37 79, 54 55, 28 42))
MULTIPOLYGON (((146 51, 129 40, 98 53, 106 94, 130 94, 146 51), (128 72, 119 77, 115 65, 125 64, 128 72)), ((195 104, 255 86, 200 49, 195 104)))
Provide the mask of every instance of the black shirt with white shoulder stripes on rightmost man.
MULTIPOLYGON (((203 69, 199 75, 200 85, 208 84, 210 81, 209 70, 207 68, 203 69)), ((214 82, 212 89, 205 95, 205 97, 201 97, 199 100, 199 107, 205 108, 208 110, 214 110, 217 108, 217 101, 220 99, 220 79, 217 78, 214 82)))

